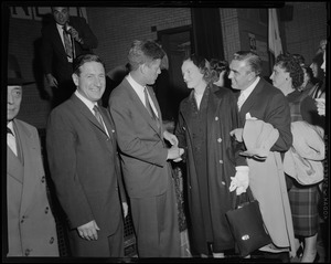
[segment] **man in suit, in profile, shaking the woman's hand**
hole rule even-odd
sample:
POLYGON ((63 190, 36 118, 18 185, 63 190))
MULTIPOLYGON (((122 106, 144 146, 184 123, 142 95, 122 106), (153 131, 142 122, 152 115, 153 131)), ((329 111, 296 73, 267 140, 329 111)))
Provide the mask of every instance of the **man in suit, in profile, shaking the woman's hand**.
POLYGON ((164 51, 153 41, 135 41, 130 73, 110 94, 109 109, 118 135, 122 172, 130 198, 140 257, 180 256, 178 211, 171 166, 183 149, 163 129, 152 85, 164 51), (172 147, 168 148, 164 139, 172 147))

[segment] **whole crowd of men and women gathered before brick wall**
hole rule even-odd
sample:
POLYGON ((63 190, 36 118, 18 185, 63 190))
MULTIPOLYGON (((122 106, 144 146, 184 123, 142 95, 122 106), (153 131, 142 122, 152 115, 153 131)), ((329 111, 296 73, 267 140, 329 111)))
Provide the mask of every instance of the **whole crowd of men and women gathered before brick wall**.
MULTIPOLYGON (((126 74, 105 98, 107 74, 93 53, 97 39, 88 24, 65 7, 52 12, 54 22, 42 31, 45 77, 57 91, 46 152, 72 256, 124 257, 130 213, 139 257, 181 257, 172 166, 182 162, 195 255, 236 254, 225 213, 249 187, 271 239, 258 252, 284 261, 319 258, 325 42, 310 66, 299 54, 276 57, 271 83, 254 52, 238 51, 229 63, 190 54, 181 71, 192 91, 171 133, 152 87, 163 49, 134 41, 126 74)), ((9 55, 7 256, 58 256, 39 135, 15 118, 25 84, 9 55)))

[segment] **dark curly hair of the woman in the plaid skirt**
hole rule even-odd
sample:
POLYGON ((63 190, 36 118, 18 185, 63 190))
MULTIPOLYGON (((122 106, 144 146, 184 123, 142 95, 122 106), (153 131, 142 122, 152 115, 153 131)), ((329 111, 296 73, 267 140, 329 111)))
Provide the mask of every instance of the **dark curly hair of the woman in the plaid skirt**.
POLYGON ((275 65, 284 68, 289 73, 292 80, 293 88, 299 88, 303 83, 303 70, 299 64, 299 61, 292 54, 280 54, 276 57, 275 65))

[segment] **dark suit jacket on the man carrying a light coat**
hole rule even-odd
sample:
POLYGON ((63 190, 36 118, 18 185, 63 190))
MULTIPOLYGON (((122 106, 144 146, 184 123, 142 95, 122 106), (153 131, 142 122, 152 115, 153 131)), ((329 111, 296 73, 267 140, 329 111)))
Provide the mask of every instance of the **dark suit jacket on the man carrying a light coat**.
POLYGON ((287 151, 292 145, 290 108, 285 95, 263 77, 239 110, 241 127, 246 114, 271 124, 279 131, 279 138, 270 151, 287 151))

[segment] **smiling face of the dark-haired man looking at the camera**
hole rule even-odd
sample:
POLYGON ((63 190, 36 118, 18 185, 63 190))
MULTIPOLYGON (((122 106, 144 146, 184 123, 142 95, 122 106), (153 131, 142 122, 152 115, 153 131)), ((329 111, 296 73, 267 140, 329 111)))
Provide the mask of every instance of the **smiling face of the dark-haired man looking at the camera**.
POLYGON ((79 67, 79 75, 73 74, 77 91, 85 98, 96 103, 106 88, 105 68, 99 62, 86 62, 79 67))

